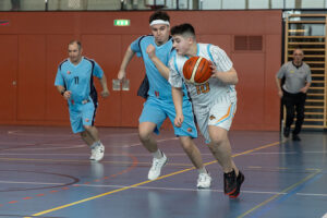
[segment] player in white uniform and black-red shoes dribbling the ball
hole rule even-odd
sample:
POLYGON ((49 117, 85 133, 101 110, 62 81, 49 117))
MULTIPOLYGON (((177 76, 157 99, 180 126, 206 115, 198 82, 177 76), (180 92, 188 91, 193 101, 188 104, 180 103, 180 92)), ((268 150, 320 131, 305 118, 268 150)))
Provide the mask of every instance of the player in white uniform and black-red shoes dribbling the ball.
POLYGON ((221 165, 225 178, 225 194, 238 197, 244 175, 237 168, 231 156, 228 131, 237 109, 237 71, 226 52, 217 46, 197 44, 191 24, 181 24, 171 28, 173 48, 169 61, 169 83, 177 111, 174 124, 184 121, 182 110, 183 65, 191 57, 201 56, 211 60, 213 76, 202 85, 186 83, 197 120, 197 124, 213 155, 221 165))

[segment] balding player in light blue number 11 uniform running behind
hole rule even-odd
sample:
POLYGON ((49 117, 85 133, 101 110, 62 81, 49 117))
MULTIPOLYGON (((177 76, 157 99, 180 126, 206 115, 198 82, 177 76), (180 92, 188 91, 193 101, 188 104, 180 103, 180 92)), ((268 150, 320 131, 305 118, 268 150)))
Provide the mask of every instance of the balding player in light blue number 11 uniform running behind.
POLYGON ((90 147, 90 160, 101 160, 105 146, 94 126, 98 106, 97 90, 93 77, 99 78, 101 96, 109 96, 102 69, 94 60, 82 57, 82 45, 77 40, 69 44, 69 58, 59 64, 55 85, 69 105, 73 133, 81 133, 82 140, 90 147))

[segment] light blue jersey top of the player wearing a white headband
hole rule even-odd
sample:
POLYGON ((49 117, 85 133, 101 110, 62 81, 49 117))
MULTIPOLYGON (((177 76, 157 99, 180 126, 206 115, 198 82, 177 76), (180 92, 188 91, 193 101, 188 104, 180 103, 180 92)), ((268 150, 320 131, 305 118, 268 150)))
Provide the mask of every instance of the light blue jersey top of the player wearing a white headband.
MULTIPOLYGON (((157 46, 155 43, 155 37, 148 35, 142 36, 131 44, 131 49, 136 53, 136 56, 143 58, 146 75, 149 82, 148 96, 156 97, 165 101, 172 101, 170 84, 159 73, 154 62, 146 53, 146 48, 149 45, 153 45, 156 48, 156 56, 160 59, 160 61, 165 65, 168 65, 168 61, 170 59, 170 53, 172 50, 172 39, 170 38, 166 44, 157 46)), ((187 98, 186 89, 184 88, 183 90, 184 96, 187 98)))

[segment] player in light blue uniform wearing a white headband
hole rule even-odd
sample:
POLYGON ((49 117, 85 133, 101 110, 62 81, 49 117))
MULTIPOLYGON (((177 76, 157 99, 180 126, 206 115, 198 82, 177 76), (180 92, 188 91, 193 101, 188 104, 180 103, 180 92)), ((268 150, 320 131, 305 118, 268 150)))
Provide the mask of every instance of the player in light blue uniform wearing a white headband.
MULTIPOLYGON (((158 149, 153 132, 159 133, 166 118, 169 118, 173 123, 175 110, 171 98, 171 86, 167 81, 169 77, 167 65, 172 49, 172 41, 169 36, 169 15, 161 11, 155 12, 149 17, 149 26, 153 35, 142 36, 131 44, 121 63, 118 78, 125 78, 126 66, 135 53, 143 58, 149 89, 140 117, 138 133, 142 144, 154 156, 148 179, 155 180, 160 175, 161 168, 167 162, 167 157, 158 149)), ((183 89, 183 92, 182 106, 186 114, 185 122, 180 128, 173 125, 174 134, 179 136, 183 149, 198 170, 197 187, 209 187, 211 178, 204 168, 201 153, 192 140, 197 137, 192 105, 186 89, 183 89)))

